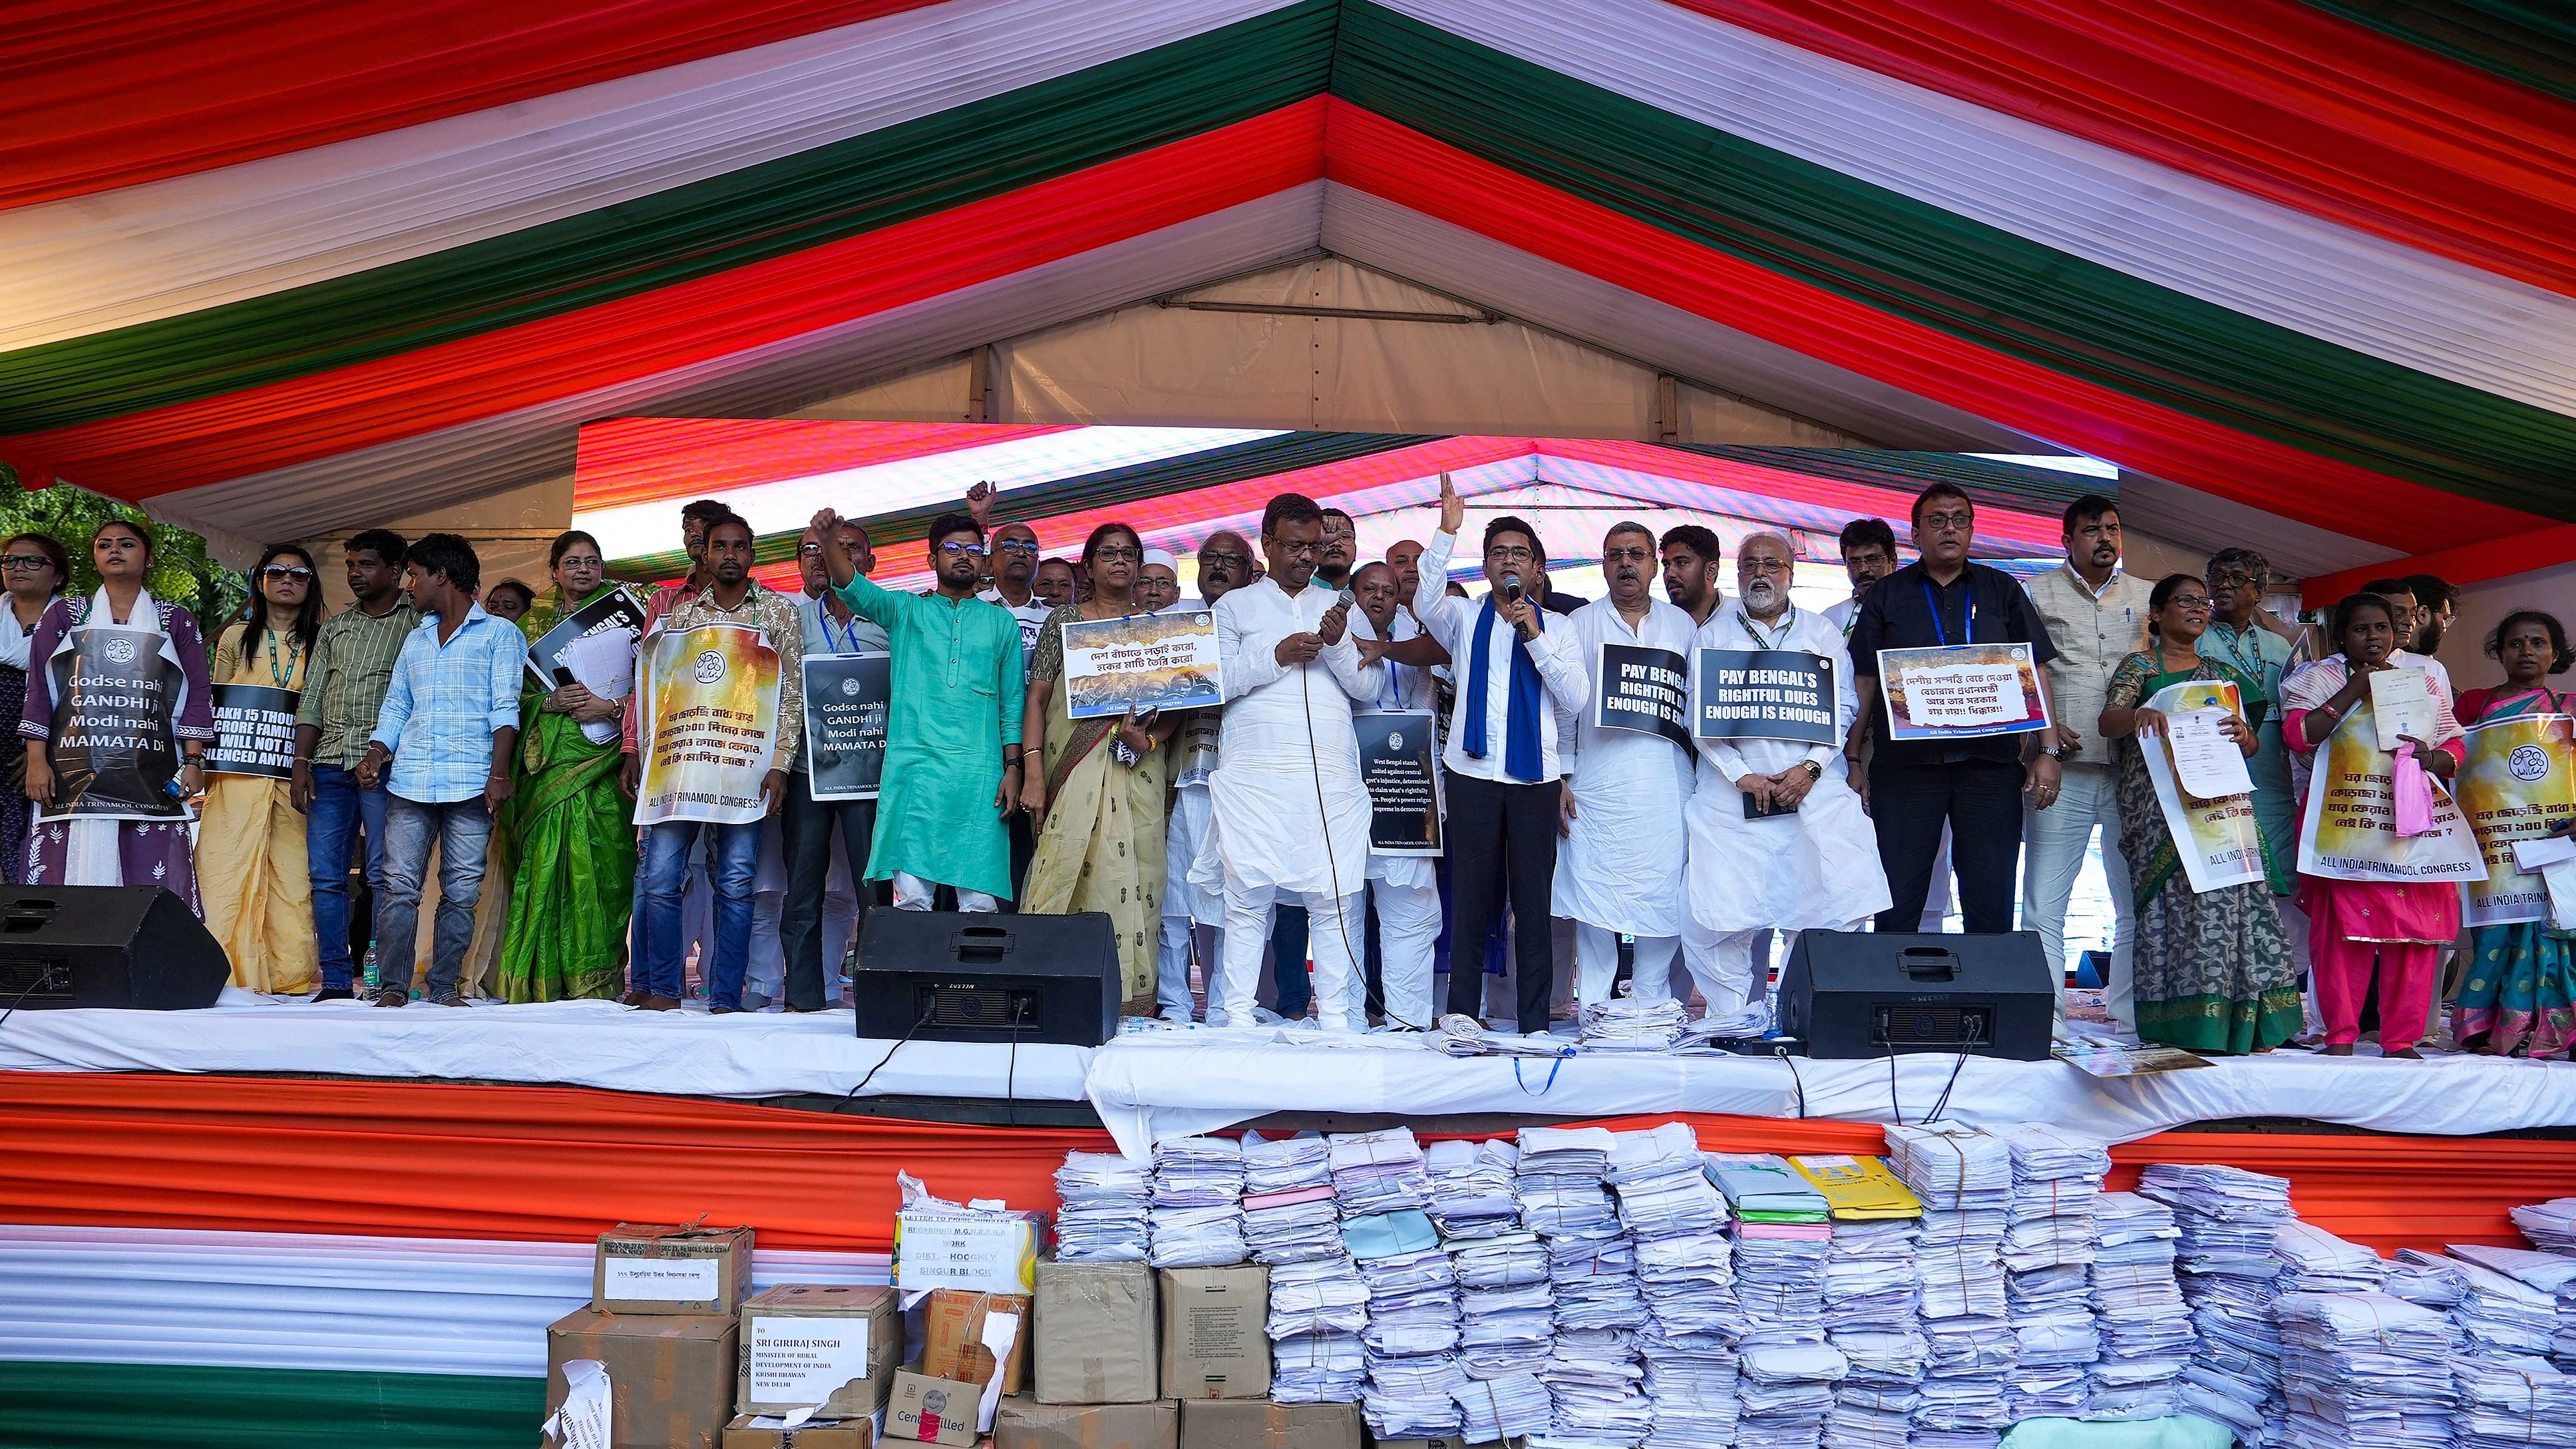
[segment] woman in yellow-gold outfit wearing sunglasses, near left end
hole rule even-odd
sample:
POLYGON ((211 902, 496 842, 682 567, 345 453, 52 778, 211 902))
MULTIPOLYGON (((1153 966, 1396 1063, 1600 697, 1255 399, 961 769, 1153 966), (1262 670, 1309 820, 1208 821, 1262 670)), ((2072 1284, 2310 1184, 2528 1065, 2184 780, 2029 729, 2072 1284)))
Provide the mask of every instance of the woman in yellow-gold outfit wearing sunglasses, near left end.
MULTIPOLYGON (((214 642, 214 683, 304 688, 322 585, 314 559, 273 544, 250 570, 250 603, 214 642)), ((319 985, 314 887, 304 859, 304 815, 283 779, 219 773, 206 781, 196 830, 196 890, 206 931, 232 957, 232 985, 309 993, 319 985)))

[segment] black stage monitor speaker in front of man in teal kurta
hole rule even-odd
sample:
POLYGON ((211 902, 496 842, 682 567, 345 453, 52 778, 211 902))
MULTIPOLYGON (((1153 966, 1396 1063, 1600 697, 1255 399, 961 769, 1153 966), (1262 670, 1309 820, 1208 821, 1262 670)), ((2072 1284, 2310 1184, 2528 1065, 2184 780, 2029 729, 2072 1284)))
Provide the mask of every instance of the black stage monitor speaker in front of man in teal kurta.
POLYGON ((1064 1042, 1118 1034, 1118 933, 1105 910, 868 910, 850 998, 858 1034, 896 1042, 1064 1042))

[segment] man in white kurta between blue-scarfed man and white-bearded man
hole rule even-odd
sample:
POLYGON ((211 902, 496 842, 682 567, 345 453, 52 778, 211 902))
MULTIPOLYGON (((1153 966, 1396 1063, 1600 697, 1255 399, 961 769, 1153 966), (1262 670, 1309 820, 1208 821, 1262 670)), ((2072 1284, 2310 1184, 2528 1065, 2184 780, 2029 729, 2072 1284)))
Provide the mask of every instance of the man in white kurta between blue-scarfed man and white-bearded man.
MULTIPOLYGON (((1672 650, 1690 668, 1690 614, 1654 596, 1656 547, 1643 523, 1618 523, 1602 539, 1610 596, 1577 608, 1566 624, 1582 642, 1592 699, 1602 688, 1602 645, 1672 650)), ((1574 920, 1574 990, 1584 1006, 1610 1000, 1620 936, 1633 938, 1633 993, 1672 995, 1672 959, 1682 949, 1682 871, 1690 830, 1682 802, 1692 758, 1662 735, 1602 730, 1592 699, 1574 730, 1566 773, 1566 843, 1556 851, 1556 915, 1574 920)))

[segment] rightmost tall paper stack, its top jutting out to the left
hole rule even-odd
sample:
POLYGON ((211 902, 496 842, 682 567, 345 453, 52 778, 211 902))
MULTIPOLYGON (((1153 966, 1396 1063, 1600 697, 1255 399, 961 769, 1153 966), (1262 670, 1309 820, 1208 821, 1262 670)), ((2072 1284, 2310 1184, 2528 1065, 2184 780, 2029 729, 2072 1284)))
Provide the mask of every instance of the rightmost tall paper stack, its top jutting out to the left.
POLYGON ((2174 1209, 2182 1227, 2182 1297, 2200 1346, 2182 1374, 2184 1408, 2226 1423, 2249 1444, 2277 1444, 2280 1330, 2272 1299, 2280 1258, 2272 1238, 2293 1220, 2290 1183, 2210 1163, 2156 1163, 2138 1194, 2174 1209))

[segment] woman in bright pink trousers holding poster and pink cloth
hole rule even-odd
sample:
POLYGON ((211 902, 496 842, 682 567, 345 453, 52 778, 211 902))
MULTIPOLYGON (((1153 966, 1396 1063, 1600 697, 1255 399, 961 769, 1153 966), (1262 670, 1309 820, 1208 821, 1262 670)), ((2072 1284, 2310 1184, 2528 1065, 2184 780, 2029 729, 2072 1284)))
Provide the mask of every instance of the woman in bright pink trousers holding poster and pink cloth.
MULTIPOLYGON (((2370 704, 2370 676, 2391 665, 2401 647, 2398 621, 2375 593, 2352 593, 2334 606, 2329 637, 2339 655, 2316 660, 2280 681, 2285 709, 2280 732, 2300 766, 2300 794, 2313 789, 2313 758, 2334 730, 2370 704)), ((2432 737, 2406 737, 2424 773, 2452 779, 2465 748, 2460 722, 2442 688, 2432 691, 2432 737)), ((2372 771, 2393 779, 2398 758, 2375 750, 2372 771)), ((2393 789, 2393 786, 2391 786, 2393 789)), ((2303 810, 2306 815, 2306 810, 2303 810)), ((2349 1057, 2362 1036, 2362 995, 2372 964, 2380 977, 2380 1055, 2419 1060, 2416 1042, 2432 1024, 2432 990, 2442 946, 2460 938, 2460 887, 2432 882, 2354 882, 2298 877, 2308 910, 2308 969, 2316 977, 2316 1013, 2326 1018, 2326 1055, 2349 1057)))

